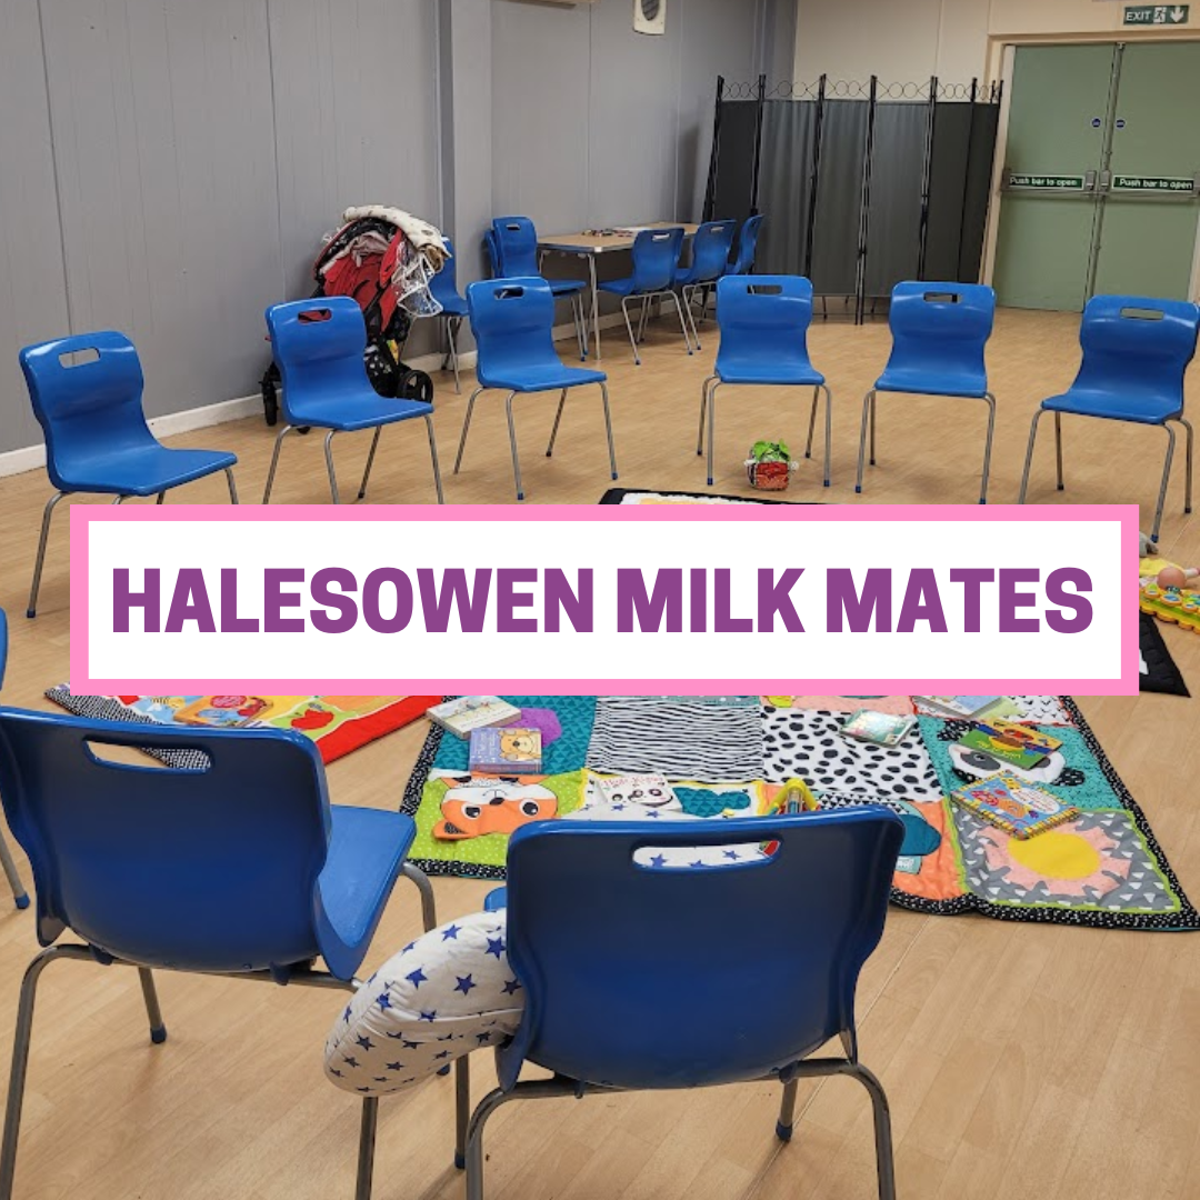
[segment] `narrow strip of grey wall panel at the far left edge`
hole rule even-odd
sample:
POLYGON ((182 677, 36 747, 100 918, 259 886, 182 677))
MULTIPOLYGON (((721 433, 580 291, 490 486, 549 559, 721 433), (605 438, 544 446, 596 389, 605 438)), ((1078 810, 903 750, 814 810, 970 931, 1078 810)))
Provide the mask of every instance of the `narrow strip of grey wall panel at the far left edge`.
POLYGON ((0 4, 0 451, 41 442, 17 365, 68 332, 37 0, 0 4))

